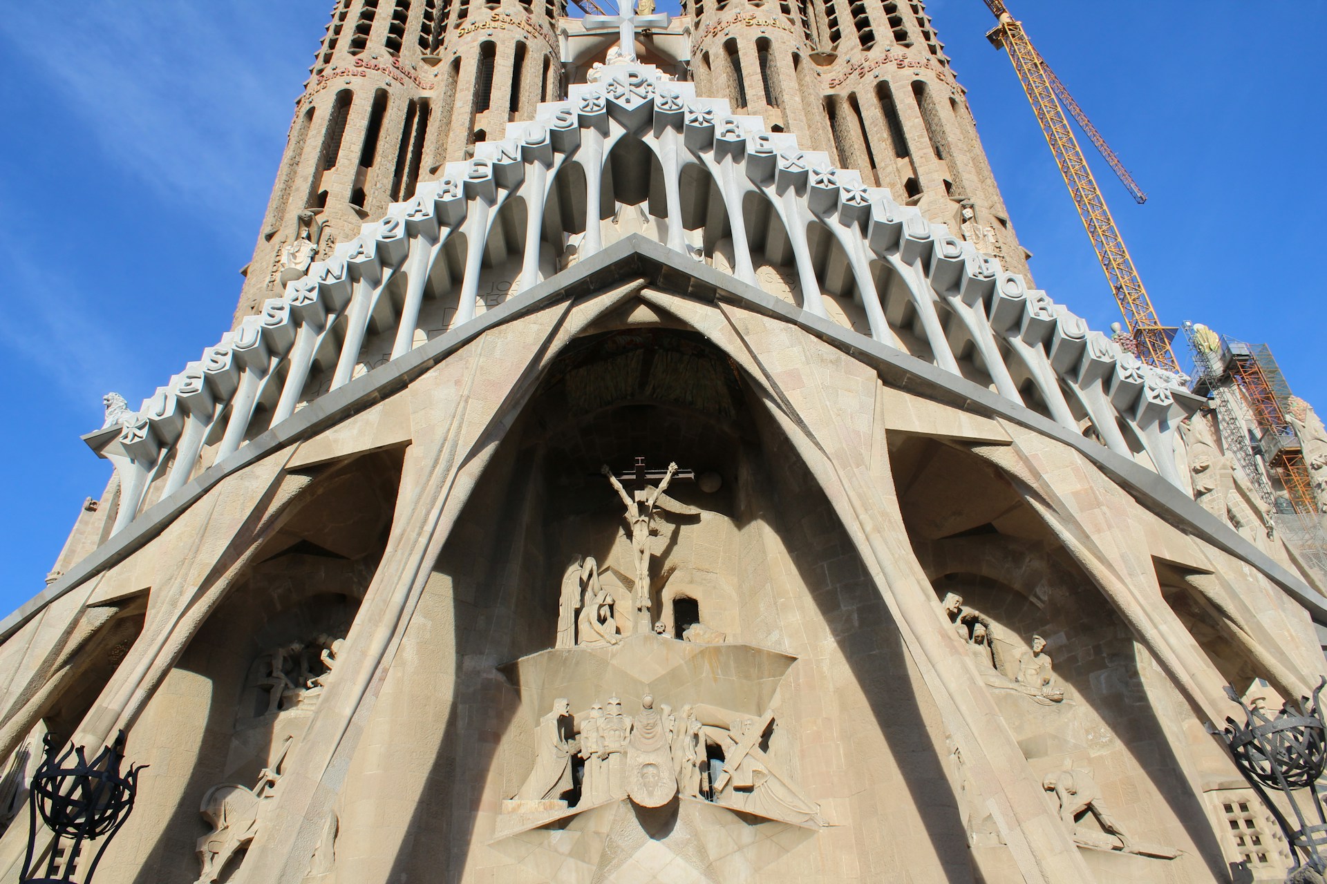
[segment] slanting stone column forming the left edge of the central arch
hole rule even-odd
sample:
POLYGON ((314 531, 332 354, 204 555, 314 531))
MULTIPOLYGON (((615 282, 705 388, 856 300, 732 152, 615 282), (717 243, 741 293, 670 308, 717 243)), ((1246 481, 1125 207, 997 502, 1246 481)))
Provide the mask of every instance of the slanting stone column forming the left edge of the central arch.
POLYGON ((498 326, 398 394, 410 398, 413 444, 387 549, 346 636, 348 664, 287 759, 280 794, 249 848, 249 884, 284 884, 308 869, 433 563, 511 420, 557 349, 637 288, 628 284, 576 307, 552 305, 498 326))

